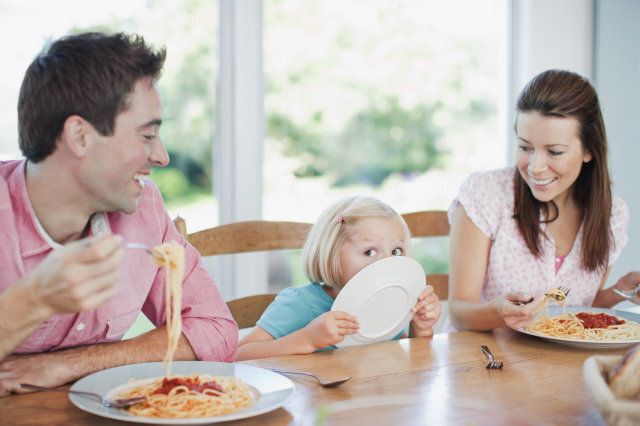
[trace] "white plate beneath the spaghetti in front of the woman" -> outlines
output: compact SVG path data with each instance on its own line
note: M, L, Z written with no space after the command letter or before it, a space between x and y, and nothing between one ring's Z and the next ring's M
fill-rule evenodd
M640 323L640 315L638 314L634 314L633 312L627 312L627 311L616 311L613 309L604 309L604 308L592 308L590 306L567 306L566 308L566 312L567 313L576 313L576 312L596 312L596 313L600 313L600 312L604 312L605 314L609 314L609 315L615 315L617 317L629 320L629 321L634 321L637 323ZM539 315L546 315L546 310L543 308L540 310ZM549 307L549 316L555 316L555 315L562 315L562 307L560 306L550 306ZM624 341L619 341L619 340L604 340L604 341L597 341L597 340L575 340L575 339L567 339L565 337L552 337L552 336L546 336L544 334L541 333L534 333L531 331L527 331L524 329L518 329L517 331L524 333L524 334L529 334L531 336L536 336L536 337L541 337L545 340L549 340L551 342L556 342L556 343L560 343L561 345L568 345L568 346L577 346L580 348L592 348L592 349L619 349L619 348L624 348L625 346L631 346L635 343L640 343L640 340L624 340Z

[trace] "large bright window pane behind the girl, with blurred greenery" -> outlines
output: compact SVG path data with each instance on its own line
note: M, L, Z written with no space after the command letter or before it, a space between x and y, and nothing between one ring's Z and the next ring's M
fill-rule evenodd
M446 209L466 175L505 165L505 2L263 5L265 219L313 222L352 194ZM446 271L447 239L424 244L425 269ZM271 289L304 283L290 262Z

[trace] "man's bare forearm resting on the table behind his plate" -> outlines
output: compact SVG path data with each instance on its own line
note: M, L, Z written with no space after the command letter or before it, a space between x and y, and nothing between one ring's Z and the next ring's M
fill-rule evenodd
M106 368L161 361L166 350L166 327L163 326L120 342L35 355L15 355L0 363L0 394L6 391L28 392L20 389L20 383L55 387ZM196 359L184 335L180 336L174 359Z

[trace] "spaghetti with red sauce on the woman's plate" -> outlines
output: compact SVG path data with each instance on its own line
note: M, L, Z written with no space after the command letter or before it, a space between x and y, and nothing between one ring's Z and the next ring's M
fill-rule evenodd
M549 315L549 300L555 300L562 306L562 315ZM546 316L535 320L525 330L545 336L561 337L572 340L589 341L627 341L640 340L640 324L606 313L565 311L565 295L558 289L547 293L545 300Z

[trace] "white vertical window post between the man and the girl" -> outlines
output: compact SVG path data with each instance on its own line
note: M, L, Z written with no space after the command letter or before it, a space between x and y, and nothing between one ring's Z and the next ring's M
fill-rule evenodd
M219 6L214 189L220 224L225 224L262 217L262 2L219 0ZM222 256L215 259L213 269L227 300L267 290L264 253Z

